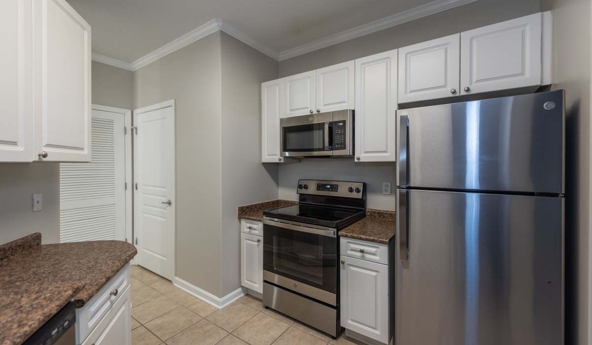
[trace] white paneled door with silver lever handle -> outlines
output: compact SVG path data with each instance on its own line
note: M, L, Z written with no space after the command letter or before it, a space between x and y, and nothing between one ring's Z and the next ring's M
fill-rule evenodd
M138 263L175 270L175 101L134 110L134 236Z

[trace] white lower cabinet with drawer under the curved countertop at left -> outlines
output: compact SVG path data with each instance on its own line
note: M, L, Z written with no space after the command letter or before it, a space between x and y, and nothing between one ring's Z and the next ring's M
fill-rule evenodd
M131 344L130 265L76 309L76 344Z

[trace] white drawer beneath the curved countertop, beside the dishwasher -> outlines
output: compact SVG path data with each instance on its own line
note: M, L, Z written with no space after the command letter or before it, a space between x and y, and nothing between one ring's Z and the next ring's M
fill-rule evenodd
M82 343L107 314L112 305L130 285L130 264L128 263L109 280L82 308L76 309L76 344ZM117 294L111 294L117 289Z

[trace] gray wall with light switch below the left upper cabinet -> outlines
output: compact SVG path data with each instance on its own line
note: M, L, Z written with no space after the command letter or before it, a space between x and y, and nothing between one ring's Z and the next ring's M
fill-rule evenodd
M0 163L0 244L32 233L60 241L59 163ZM33 212L33 193L43 209Z

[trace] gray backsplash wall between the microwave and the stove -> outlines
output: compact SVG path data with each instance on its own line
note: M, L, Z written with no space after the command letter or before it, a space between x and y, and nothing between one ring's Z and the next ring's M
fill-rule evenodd
M366 182L366 207L395 210L395 163L355 163L353 158L302 159L279 164L279 198L297 200L298 179ZM382 194L382 182L391 182L391 195Z

